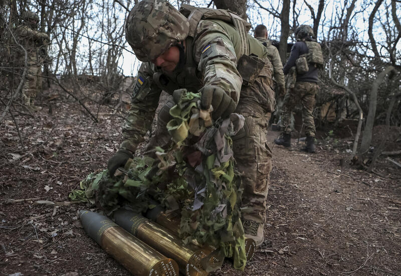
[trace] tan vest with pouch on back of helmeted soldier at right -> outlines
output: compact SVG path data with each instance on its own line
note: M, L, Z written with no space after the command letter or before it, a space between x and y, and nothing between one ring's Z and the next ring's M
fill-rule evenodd
M308 53L299 56L295 61L297 72L300 75L306 74L309 71L309 65L315 67L323 66L323 54L320 44L316 41L305 41L308 47Z

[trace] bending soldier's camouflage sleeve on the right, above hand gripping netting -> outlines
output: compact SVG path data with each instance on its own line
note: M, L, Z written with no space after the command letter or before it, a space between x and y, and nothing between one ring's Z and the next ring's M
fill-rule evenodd
M238 103L242 77L237 70L237 56L226 31L212 21L201 21L193 45L195 61L204 85L223 88Z

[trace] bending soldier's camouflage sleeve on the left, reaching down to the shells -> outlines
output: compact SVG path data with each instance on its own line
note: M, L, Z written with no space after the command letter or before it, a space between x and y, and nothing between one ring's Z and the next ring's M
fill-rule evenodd
M143 62L131 95L131 107L124 120L122 134L124 141L120 148L132 153L144 141L147 130L151 129L161 89L153 82L153 70Z

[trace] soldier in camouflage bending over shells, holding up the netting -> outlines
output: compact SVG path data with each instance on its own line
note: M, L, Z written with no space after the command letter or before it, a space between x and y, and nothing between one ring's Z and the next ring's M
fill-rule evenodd
M271 63L266 48L248 34L250 25L225 10L182 5L180 12L163 0L143 0L126 20L126 39L142 61L120 149L108 161L112 175L144 141L162 90L202 92L201 105L214 119L236 112L245 126L233 137L237 169L243 173L242 221L247 238L263 242L272 152L266 144L265 114L274 110ZM148 150L167 147L170 97L158 114Z

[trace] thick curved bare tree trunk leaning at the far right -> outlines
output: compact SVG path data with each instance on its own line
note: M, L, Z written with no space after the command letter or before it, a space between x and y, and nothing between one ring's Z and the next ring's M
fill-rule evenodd
M359 148L359 154L363 154L369 150L370 142L372 140L374 117L376 115L377 90L379 88L380 83L383 81L384 77L392 70L394 70L394 67L387 66L387 68L385 68L384 71L377 76L376 80L372 84L372 90L370 91L370 97L369 97L369 111L366 117L366 125L365 125L365 130L363 130L362 142Z

